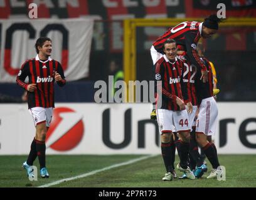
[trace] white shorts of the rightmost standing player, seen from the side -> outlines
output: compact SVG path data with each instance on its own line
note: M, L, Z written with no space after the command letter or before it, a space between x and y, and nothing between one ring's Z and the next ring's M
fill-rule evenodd
M218 121L218 107L213 97L203 99L198 119L196 119L196 132L206 136L214 135Z

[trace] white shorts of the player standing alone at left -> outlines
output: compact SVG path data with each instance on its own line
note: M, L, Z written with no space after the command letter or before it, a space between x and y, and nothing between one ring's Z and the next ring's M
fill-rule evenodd
M35 126L41 123L46 123L46 127L50 127L51 118L53 116L53 108L35 107L29 109L33 117Z

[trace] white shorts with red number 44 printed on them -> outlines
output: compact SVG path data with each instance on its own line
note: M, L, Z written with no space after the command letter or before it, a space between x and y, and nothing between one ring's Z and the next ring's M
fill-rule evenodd
M168 109L156 109L159 133L171 133L189 131L188 113L183 111L170 111Z

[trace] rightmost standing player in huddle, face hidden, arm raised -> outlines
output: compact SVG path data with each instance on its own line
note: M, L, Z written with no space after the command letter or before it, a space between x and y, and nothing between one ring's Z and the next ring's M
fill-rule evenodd
M196 119L196 141L203 149L206 157L210 161L213 169L207 178L216 178L218 173L221 173L220 163L216 146L208 141L208 136L212 136L216 132L218 108L216 101L213 98L213 74L211 65L206 58L200 58L208 70L208 82L201 81L201 72L196 73L196 94L199 99L199 113ZM198 169L200 171L200 169ZM200 172L198 172L200 173ZM195 173L196 174L196 173Z

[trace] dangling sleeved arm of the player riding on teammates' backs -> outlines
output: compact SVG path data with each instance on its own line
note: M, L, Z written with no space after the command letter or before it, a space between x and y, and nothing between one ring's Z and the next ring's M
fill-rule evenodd
M200 57L198 56L198 53L196 52L196 42L195 42L196 36L197 35L193 34L193 32L188 32L185 35L186 51L187 51L187 55L188 55L188 58L191 61L191 63L195 64L195 66L198 69L201 69L202 76L200 79L203 79L203 83L206 83L208 81L208 71L207 71L205 64L203 64L203 62L200 60Z

